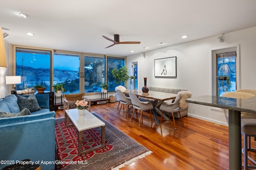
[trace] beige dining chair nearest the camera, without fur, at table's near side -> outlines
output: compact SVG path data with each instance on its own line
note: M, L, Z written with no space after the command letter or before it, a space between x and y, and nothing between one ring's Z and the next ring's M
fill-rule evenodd
M151 111L151 109L153 109L152 103L149 102L149 101L148 102L140 101L138 99L138 97L132 92L129 92L129 96L130 96L130 99L132 101L132 107L134 108L134 110L132 112L132 117L133 117L134 111L137 112L137 110L141 110L139 126L141 124L141 119L143 117L143 111L146 111L146 110L150 110L150 117L151 117L151 122L152 122L152 111ZM132 117L131 117L130 121L132 121Z

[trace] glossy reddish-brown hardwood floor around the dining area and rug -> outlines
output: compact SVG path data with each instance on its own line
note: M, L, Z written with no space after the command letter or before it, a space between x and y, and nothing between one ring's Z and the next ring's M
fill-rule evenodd
M186 116L184 126L175 119L174 130L172 120L163 120L162 125L151 123L149 112L143 114L139 127L140 113L134 113L130 121L132 110L125 119L122 110L118 115L117 106L118 102L95 105L91 112L153 151L122 170L228 170L228 127ZM56 111L56 118L63 115L63 110Z

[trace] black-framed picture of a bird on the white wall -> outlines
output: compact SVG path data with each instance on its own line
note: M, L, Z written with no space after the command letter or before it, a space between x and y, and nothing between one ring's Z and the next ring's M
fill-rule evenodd
M177 77L177 57L155 59L155 77Z

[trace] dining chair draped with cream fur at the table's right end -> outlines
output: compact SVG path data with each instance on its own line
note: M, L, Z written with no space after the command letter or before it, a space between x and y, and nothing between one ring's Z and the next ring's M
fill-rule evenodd
M178 114L180 115L180 119L182 121L182 124L184 125L184 121L183 121L182 116L180 114L180 110L185 109L186 107L188 107L188 103L185 100L187 98L191 98L191 96L192 96L191 92L181 91L181 92L178 92L175 100L167 100L167 101L163 102L161 104L160 108L159 108L162 111L160 124L162 123L163 113L164 113L164 111L166 111L166 112L169 113L169 121L170 121L170 113L172 113L172 119L173 119L175 130L177 128L176 128L176 125L175 125L174 113L178 112Z

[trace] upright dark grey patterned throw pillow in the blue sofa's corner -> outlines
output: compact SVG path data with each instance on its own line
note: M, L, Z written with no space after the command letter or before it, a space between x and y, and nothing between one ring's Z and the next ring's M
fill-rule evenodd
M25 108L29 109L30 112L41 110L34 94L28 96L28 98L24 96L18 96L18 105L20 110Z

